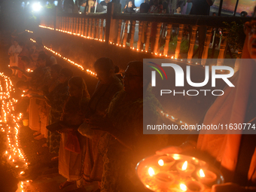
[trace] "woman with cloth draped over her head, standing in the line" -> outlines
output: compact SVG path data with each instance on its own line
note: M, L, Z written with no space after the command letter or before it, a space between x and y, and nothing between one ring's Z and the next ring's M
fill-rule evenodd
M62 129L59 145L59 174L67 178L67 181L59 185L59 188L68 186L81 179L82 154L84 151L85 139L78 133L78 126L83 123L84 109L87 108L90 95L84 79L74 77L69 80L69 99L66 101L62 112ZM73 150L70 145L70 139L79 142L73 143ZM74 140L73 140L74 141ZM75 150L75 151L74 151Z

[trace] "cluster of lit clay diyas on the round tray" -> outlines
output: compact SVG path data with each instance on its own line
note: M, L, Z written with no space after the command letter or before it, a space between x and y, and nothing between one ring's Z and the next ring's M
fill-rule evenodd
M145 186L156 191L175 191L203 192L209 188L216 180L217 175L207 169L197 169L193 163L176 160L169 156L158 158L157 165L149 166L145 172L143 181ZM173 168L173 166L175 167ZM193 178L192 174L196 172Z

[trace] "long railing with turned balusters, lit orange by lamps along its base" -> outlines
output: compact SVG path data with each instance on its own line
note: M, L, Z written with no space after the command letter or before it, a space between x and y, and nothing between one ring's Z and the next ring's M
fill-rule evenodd
M204 41L202 59L208 58L209 44L213 28L227 28L224 22L245 23L250 20L247 17L210 17L191 15L167 15L167 14L114 14L115 6L108 4L107 14L56 14L41 18L41 26L55 29L59 32L66 32L78 35L83 38L90 38L105 41L107 44L114 44L119 47L130 47L135 51L153 53L156 56L167 58L181 57L181 41L184 27L190 26L189 49L187 59L194 57L194 45L196 44L197 29L206 27L206 38ZM128 32L130 28L130 32ZM169 51L169 42L172 30L178 31L178 40L175 53ZM152 31L155 34L152 36ZM130 34L129 34L130 33ZM228 29L223 31L218 59L225 58L227 48ZM127 37L130 43L127 43ZM154 38L154 47L151 45L151 38ZM142 41L142 39L144 39ZM164 41L163 49L160 49L160 41ZM145 44L145 46L143 46ZM205 62L201 63L202 65ZM222 65L221 62L218 65Z

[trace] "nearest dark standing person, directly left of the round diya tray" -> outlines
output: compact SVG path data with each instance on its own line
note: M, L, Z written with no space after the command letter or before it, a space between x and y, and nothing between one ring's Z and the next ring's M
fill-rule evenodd
M130 62L123 74L123 90L112 99L105 118L90 121L96 130L106 132L98 147L104 160L101 191L145 190L136 180L136 163L167 143L167 136L143 135L143 105L154 119L161 117L160 103L147 89L149 82L143 83L143 63Z

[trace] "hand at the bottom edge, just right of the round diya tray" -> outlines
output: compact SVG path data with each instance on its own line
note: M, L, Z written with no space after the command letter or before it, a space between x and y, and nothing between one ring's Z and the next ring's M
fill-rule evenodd
M245 187L235 183L224 183L212 185L212 192L244 192Z

